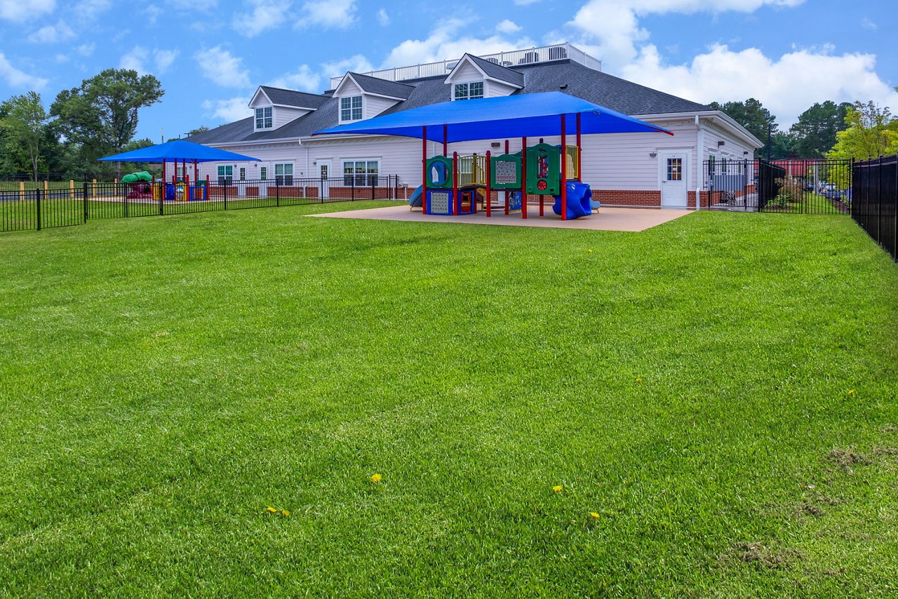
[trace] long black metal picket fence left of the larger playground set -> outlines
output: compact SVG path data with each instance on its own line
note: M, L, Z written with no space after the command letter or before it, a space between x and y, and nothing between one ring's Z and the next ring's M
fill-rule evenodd
M362 183L357 185L357 183ZM94 183L0 181L0 232L83 225L94 218L165 216L371 199L408 199L399 177Z

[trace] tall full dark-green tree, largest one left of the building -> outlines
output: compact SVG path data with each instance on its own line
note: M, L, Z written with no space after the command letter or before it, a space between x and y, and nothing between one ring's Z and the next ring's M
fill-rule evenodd
M50 114L66 139L81 145L82 157L92 160L121 152L136 133L137 110L160 101L164 93L153 75L108 68L80 87L59 92Z

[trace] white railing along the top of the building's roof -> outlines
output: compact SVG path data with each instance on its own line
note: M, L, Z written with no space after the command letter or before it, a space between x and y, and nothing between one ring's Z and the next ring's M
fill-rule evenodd
M551 46L541 46L539 48L525 48L522 50L512 50L510 52L484 54L480 57L501 66L531 65L569 58L587 68L596 71L602 70L601 60L589 56L583 50L571 46L568 42L563 44L553 44ZM425 63L423 65L396 66L394 68L384 68L379 71L370 71L368 73L363 73L362 75L377 77L378 79L385 79L387 81L404 81L407 79L418 79L420 77L448 75L452 72L453 68L455 68L455 65L458 64L459 60L460 58L454 58L453 60L441 60L439 62ZM342 79L343 75L330 77L330 89L336 88Z

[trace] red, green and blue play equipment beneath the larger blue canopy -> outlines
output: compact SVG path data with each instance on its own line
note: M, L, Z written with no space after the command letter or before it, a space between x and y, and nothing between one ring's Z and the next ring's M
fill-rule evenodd
M480 205L487 216L498 209L506 215L521 212L526 218L524 198L537 196L543 216L546 196L551 196L555 214L561 216L564 209L563 219L588 216L598 207L597 201L591 201L589 185L580 179L579 145L567 145L562 151L562 146L540 138L539 144L527 147L524 137L523 150L515 154L510 154L506 139L504 154L488 150L471 155L455 152L451 157L446 145L443 155L425 159L424 185L409 199L409 207L422 207L427 215L462 216L476 214ZM493 191L500 203L494 203ZM575 201L568 205L562 196Z

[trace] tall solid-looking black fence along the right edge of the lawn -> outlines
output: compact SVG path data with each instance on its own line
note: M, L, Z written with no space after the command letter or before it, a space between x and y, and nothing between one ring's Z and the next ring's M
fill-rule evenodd
M898 260L898 154L854 163L851 218Z

